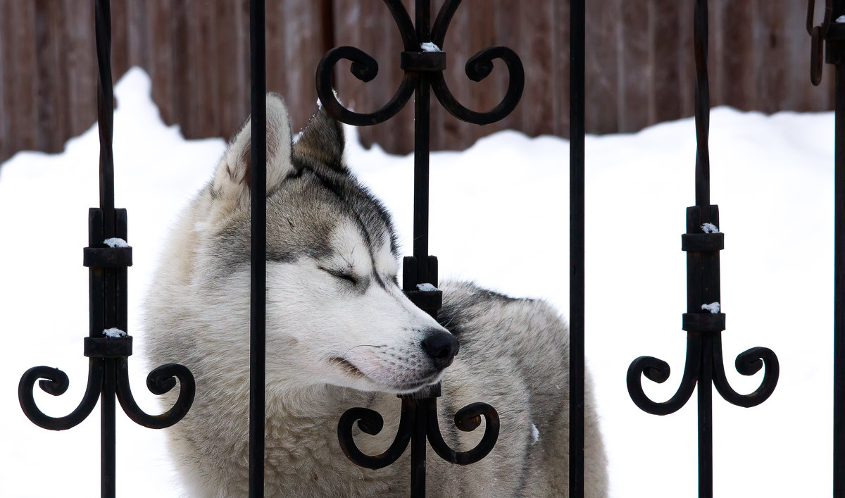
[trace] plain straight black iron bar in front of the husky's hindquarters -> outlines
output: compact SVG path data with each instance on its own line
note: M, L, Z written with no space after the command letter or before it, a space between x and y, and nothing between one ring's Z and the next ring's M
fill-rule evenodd
M584 0L570 3L570 497L584 496Z

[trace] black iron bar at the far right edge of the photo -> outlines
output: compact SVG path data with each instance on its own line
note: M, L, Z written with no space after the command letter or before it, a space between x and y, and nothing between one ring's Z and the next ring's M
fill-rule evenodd
M833 1L832 19L845 14L845 0ZM833 242L833 495L845 496L845 68L842 41L828 41L836 72L836 131ZM835 48L835 50L831 50Z

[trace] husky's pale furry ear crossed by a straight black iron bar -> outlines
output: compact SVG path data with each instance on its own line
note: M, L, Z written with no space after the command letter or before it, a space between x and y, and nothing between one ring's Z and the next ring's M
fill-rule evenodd
M252 177L252 119L232 138L212 183L215 198L248 198ZM291 122L281 96L267 94L267 192L273 191L292 166Z

